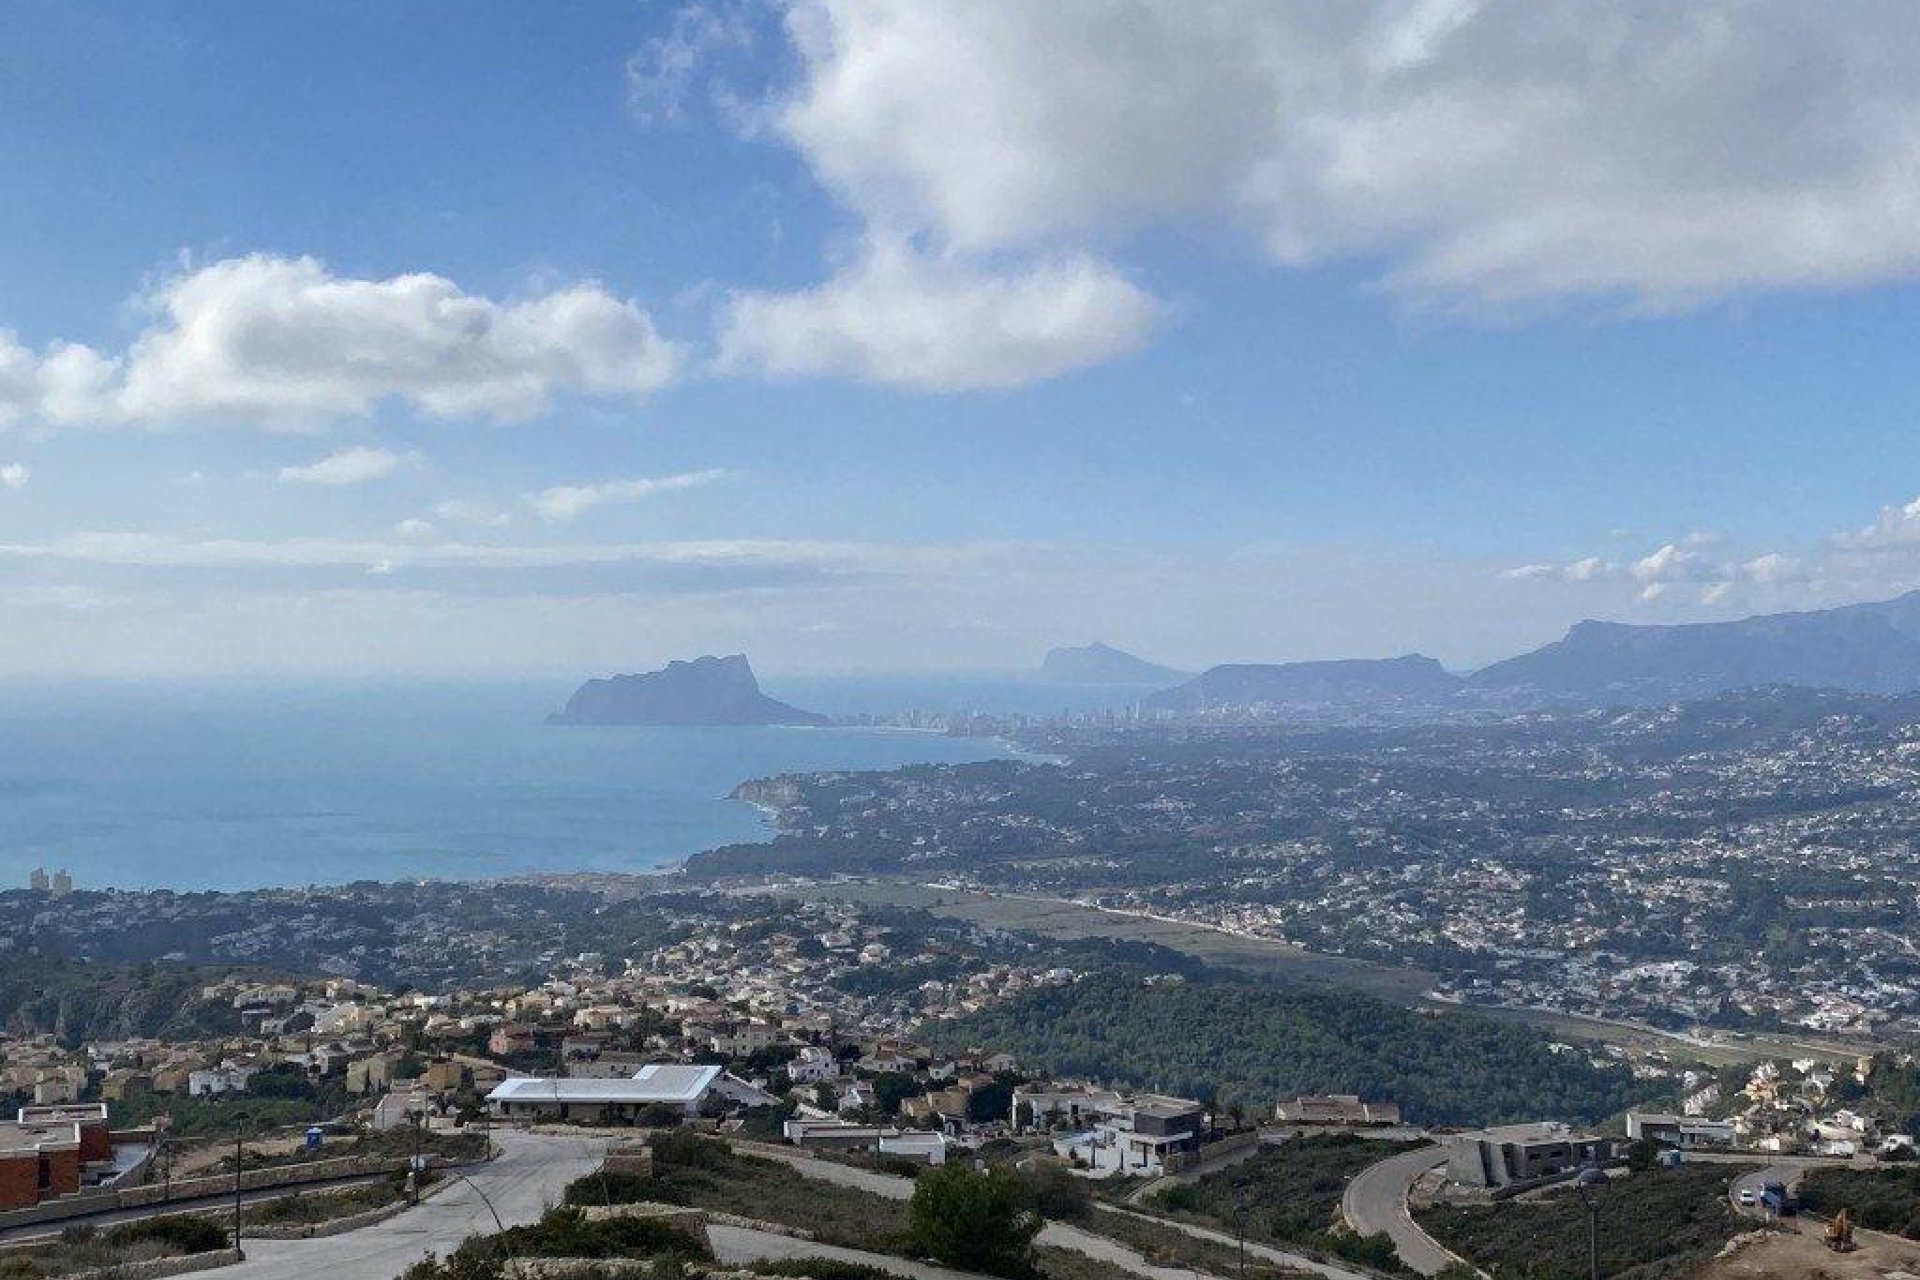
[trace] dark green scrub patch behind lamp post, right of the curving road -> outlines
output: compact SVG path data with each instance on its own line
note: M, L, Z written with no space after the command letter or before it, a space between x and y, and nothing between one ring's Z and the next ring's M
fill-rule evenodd
M1663 1280L1692 1272L1751 1228L1726 1197L1743 1173L1751 1169L1684 1165L1611 1178L1594 1192L1599 1199L1599 1274ZM1571 1186L1528 1201L1440 1205L1419 1221L1492 1280L1584 1280L1588 1274L1588 1213Z

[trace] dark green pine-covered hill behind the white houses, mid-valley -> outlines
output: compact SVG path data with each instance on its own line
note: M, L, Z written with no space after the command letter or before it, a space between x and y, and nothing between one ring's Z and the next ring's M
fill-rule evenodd
M1265 1111L1294 1094L1394 1098L1423 1125L1597 1121L1636 1102L1624 1065L1555 1052L1475 1013L1415 1013L1323 986L1142 983L1031 990L920 1034L993 1046L1029 1069Z

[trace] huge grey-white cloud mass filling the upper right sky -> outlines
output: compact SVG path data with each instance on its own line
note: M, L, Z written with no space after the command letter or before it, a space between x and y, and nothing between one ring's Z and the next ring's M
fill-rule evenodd
M1920 269L1899 0L799 0L787 27L780 129L943 248L1227 225L1494 303Z

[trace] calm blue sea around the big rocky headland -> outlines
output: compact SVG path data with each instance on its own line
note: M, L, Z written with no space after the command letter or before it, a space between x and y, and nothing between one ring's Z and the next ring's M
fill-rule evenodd
M795 679L829 714L1123 706L1031 681ZM735 785L1004 758L906 729L563 727L568 683L0 685L0 887L263 889L653 871L772 835Z

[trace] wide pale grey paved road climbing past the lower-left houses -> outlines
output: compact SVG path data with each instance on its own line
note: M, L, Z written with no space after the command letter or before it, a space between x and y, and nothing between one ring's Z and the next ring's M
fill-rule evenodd
M467 1171L465 1180L419 1209L321 1240L250 1240L248 1261L221 1268L221 1280L394 1280L428 1251L445 1257L468 1236L492 1232L486 1201L507 1226L538 1221L568 1182L599 1169L607 1153L599 1138L513 1130L493 1130L493 1138L497 1159Z

